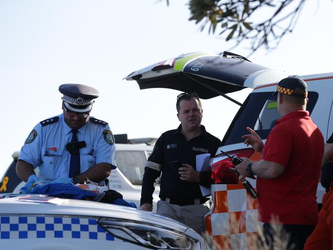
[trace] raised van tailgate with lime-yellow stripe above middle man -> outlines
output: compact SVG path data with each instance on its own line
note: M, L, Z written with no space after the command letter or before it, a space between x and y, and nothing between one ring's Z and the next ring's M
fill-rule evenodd
M140 89L192 91L202 99L209 99L217 97L219 92L226 94L278 82L285 75L283 71L271 70L240 57L189 53L134 71L124 79L135 80Z

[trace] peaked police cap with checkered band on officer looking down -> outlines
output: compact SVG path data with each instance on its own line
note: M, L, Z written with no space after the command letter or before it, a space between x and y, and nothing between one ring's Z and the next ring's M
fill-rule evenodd
M99 97L97 89L83 84L62 84L59 91L64 94L61 99L66 109L77 113L89 113L95 102L93 99Z

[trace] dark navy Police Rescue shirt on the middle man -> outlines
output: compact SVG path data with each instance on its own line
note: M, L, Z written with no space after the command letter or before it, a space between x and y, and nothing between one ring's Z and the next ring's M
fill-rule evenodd
M202 153L215 155L221 141L208 133L201 125L202 133L189 141L181 133L181 125L174 130L166 131L156 141L154 150L148 161L162 166L161 198L201 198L199 183L182 181L178 174L178 168L172 165L172 161L179 161L196 166L195 157Z

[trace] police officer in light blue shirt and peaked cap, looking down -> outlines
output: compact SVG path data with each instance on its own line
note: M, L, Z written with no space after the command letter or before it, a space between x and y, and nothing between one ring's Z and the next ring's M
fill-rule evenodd
M84 183L85 178L101 182L116 168L108 123L90 117L99 91L82 84L63 84L59 91L63 113L38 123L18 157L16 172L26 186L37 181Z

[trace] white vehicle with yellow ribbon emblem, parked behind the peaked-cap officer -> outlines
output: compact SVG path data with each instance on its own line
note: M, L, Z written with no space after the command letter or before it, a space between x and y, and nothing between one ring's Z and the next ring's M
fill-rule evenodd
M115 135L116 137L116 135ZM131 144L115 144L115 159L117 168L111 171L109 187L121 193L123 199L127 202L134 202L137 207L140 206L141 185L146 161L152 151L154 139L149 140L132 139ZM147 145L149 143L150 145ZM5 175L0 182L0 196L5 193L18 193L18 190L25 184L16 175L16 163L19 151L13 153L13 161L7 168ZM2 187L2 188L1 188ZM153 194L154 209L160 193L159 183Z

